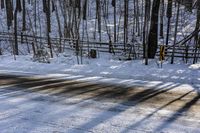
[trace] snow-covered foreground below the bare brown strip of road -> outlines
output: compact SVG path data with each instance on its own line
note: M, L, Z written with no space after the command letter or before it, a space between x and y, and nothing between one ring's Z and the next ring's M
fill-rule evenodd
M180 119L172 123L173 120L168 120L166 116L174 114L166 109L73 97L60 100L55 96L16 90L0 89L1 133L198 133L200 130L200 121L195 117L187 119L187 126ZM194 119L196 123L193 123Z

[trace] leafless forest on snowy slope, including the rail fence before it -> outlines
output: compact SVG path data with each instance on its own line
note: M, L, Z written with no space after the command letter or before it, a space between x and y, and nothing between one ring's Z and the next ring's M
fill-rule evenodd
M70 49L77 58L108 52L125 60L145 59L146 65L154 58L196 63L200 56L200 0L0 3L0 54L53 58Z

